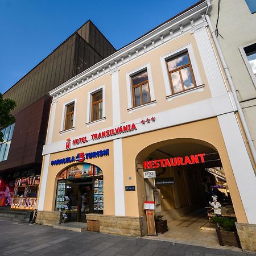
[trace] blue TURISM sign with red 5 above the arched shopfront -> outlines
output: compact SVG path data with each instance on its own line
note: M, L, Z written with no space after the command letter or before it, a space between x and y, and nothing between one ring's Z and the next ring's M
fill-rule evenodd
M102 156L108 156L108 155L109 155L109 149L93 151L89 153L81 152L76 156L68 156L67 158L52 160L51 165L56 166L58 164L84 162L85 159L100 158Z

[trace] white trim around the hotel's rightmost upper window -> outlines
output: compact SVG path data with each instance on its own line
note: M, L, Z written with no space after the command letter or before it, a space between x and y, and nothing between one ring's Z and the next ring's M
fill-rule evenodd
M164 78L164 86L166 87L166 95L169 96L172 94L171 91L171 83L169 79L169 72L167 70L166 60L170 57L173 57L175 55L179 55L179 53L188 51L189 59L191 61L191 66L193 70L193 74L196 80L196 86L199 86L202 84L202 80L199 73L199 68L196 63L196 57L193 52L192 44L189 43L186 46L183 46L179 49L176 49L175 51L169 52L166 55L160 57L161 65L162 65L162 71L163 71L163 78Z

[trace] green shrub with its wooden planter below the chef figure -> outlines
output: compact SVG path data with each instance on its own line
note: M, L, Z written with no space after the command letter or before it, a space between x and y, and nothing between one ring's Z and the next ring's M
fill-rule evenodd
M220 245L241 248L236 229L236 218L213 217L212 222L217 224L216 233Z

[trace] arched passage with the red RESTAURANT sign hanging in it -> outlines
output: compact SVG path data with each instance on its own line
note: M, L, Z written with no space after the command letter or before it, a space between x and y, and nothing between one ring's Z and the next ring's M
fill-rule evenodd
M208 224L214 216L212 196L218 196L223 214L235 216L217 149L197 139L172 139L144 148L136 161L138 171L156 172L144 179L144 187L146 201L155 201L155 215L167 220L169 231L159 237L217 246Z

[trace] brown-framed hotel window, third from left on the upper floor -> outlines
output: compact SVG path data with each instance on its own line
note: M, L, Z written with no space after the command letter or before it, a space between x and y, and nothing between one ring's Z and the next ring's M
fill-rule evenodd
M133 106L140 106L151 101L147 69L131 76Z

